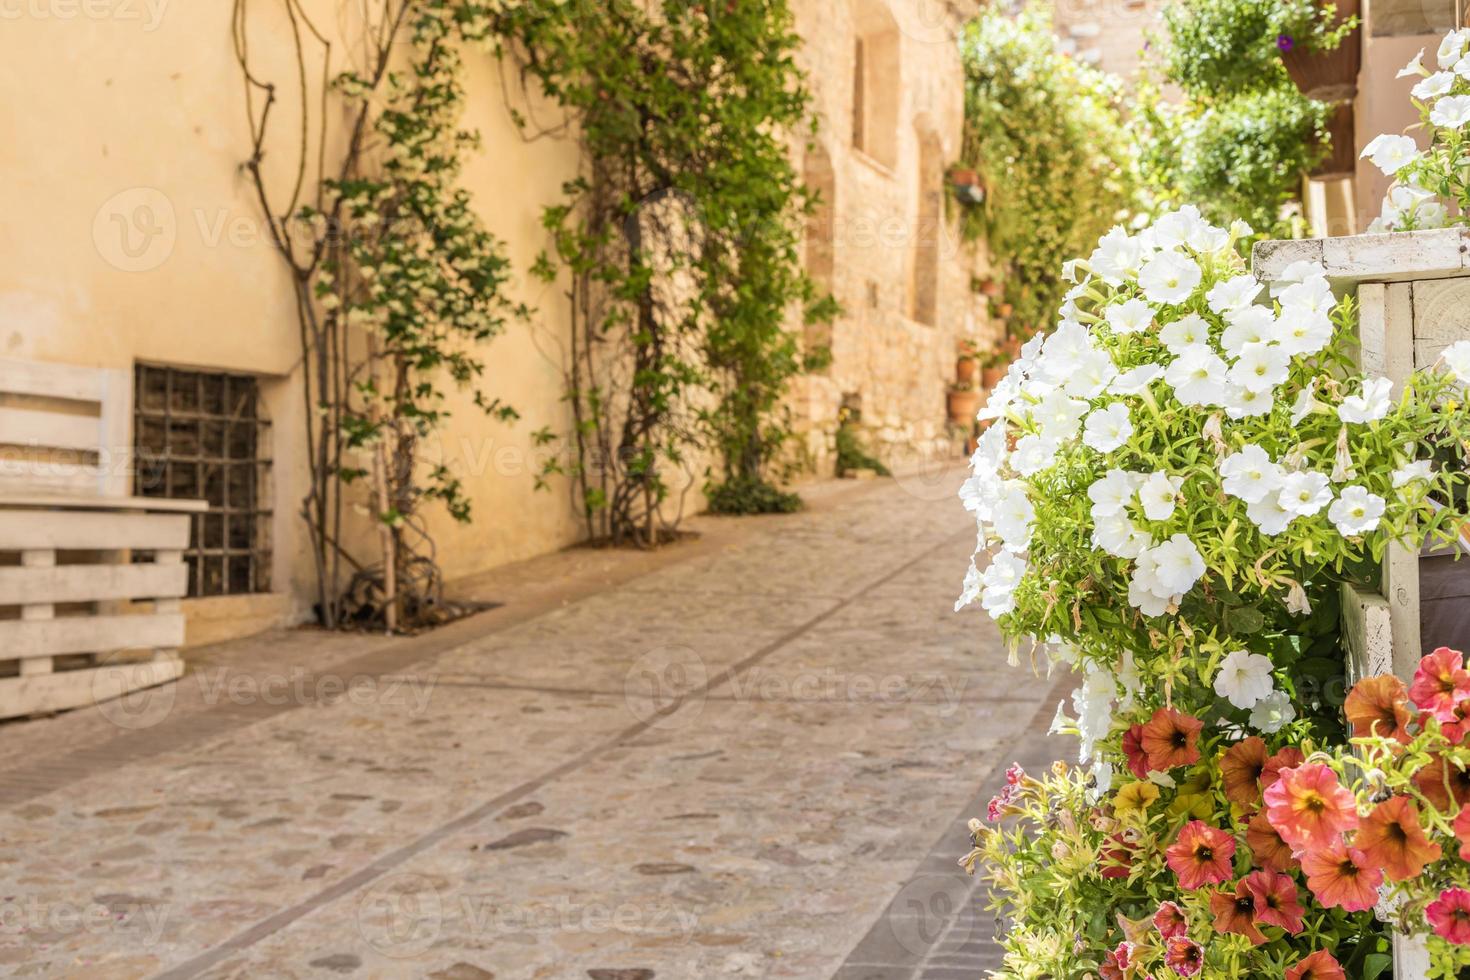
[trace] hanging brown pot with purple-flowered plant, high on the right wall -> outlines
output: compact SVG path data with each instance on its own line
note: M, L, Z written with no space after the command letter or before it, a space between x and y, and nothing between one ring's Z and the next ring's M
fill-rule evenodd
M1358 0L1336 4L1288 0L1279 7L1276 48L1301 94L1326 103L1352 98L1358 88L1361 46Z

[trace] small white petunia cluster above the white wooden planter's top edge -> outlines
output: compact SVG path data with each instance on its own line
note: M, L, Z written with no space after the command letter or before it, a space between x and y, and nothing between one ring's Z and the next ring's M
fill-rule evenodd
M1369 231L1445 228L1470 215L1470 173L1464 167L1466 128L1470 126L1470 28L1444 37L1435 51L1433 71L1424 65L1424 54L1420 50L1398 76L1420 79L1411 96L1429 145L1421 148L1410 135L1382 134L1363 148L1366 159L1394 178Z

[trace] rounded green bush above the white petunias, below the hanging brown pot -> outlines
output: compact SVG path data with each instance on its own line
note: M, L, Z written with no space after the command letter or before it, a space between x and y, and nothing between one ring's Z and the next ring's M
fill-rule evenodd
M1195 201L1210 220L1245 220L1267 237L1299 234L1283 206L1326 154L1329 107L1286 82L1217 101L1172 104L1144 90L1141 169L1160 200Z

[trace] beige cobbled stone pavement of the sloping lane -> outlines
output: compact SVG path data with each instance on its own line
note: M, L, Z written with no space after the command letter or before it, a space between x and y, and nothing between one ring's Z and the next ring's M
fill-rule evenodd
M0 974L978 977L964 820L1054 685L951 613L942 480L490 576L0 727Z

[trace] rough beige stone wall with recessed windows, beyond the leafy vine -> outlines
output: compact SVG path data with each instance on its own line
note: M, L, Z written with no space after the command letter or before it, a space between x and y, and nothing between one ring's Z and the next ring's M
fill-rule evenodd
M792 407L801 463L828 475L844 406L867 450L903 466L958 451L945 392L961 338L992 342L972 276L983 247L960 242L945 170L958 157L964 71L957 31L973 4L938 0L797 0L822 129L801 148L823 195L806 260L842 304L807 332L832 364L800 379Z

